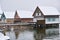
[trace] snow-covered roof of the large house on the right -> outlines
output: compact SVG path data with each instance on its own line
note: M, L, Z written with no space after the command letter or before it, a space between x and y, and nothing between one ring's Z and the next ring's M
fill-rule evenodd
M44 15L59 15L59 12L55 7L49 6L37 6L37 7L42 11Z

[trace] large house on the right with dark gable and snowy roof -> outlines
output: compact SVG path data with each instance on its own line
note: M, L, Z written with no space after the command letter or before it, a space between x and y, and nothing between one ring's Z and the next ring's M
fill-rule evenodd
M46 27L59 27L59 12L54 7L38 6L33 13L33 21L45 20Z

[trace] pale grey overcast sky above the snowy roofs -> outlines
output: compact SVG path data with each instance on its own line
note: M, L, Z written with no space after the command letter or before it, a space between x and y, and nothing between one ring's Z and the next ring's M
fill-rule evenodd
M37 5L53 6L60 11L60 0L0 0L0 5L3 11L33 11Z

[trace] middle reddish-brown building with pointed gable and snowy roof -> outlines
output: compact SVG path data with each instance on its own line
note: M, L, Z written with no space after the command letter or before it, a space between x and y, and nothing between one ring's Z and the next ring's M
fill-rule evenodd
M14 22L33 22L32 12L30 11L16 11Z

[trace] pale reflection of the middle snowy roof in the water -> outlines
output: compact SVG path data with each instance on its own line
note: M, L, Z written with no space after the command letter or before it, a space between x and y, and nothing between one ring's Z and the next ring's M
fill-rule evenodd
M33 31L23 31L20 32L19 37L17 40L34 40L34 32Z

